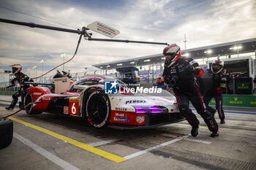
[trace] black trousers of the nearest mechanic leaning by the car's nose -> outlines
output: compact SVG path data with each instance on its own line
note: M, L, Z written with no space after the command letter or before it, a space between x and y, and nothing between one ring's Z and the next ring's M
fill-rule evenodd
M205 121L206 125L208 126L209 131L217 132L218 131L218 125L214 117L211 115L210 112L206 110L205 104L203 103L203 98L200 95L200 91L197 88L196 85L194 85L194 88L188 91L184 90L173 90L176 94L176 100L178 103L178 109L181 112L181 114L184 115L188 123L192 127L198 127L199 120L195 116L195 114L192 112L191 109L189 109L189 101L191 101L192 105L197 110L197 113L203 117L203 120Z

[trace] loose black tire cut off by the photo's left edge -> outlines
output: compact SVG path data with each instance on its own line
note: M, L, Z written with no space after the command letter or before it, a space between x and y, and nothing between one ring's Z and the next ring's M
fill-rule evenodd
M0 150L12 143L13 123L10 119L0 119Z

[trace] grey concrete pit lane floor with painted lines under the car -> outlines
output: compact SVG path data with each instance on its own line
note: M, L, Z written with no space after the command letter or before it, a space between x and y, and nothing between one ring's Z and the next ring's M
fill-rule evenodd
M9 101L1 96L0 116L18 110L5 110ZM187 121L122 131L95 129L78 117L21 111L12 116L15 134L0 150L0 169L256 169L255 109L225 109L226 123L219 124L216 138L198 114L200 134L194 138Z

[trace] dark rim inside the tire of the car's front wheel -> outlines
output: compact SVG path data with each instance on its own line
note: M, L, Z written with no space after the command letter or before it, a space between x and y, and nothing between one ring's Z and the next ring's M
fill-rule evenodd
M108 115L108 107L106 99L100 94L96 93L89 99L87 104L87 113L89 120L93 124L99 125Z

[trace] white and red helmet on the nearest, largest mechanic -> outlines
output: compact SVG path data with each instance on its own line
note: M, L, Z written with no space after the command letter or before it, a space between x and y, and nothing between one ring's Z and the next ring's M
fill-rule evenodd
M170 67L181 57L181 48L176 44L169 45L168 47L165 47L162 54L165 55L167 67Z

